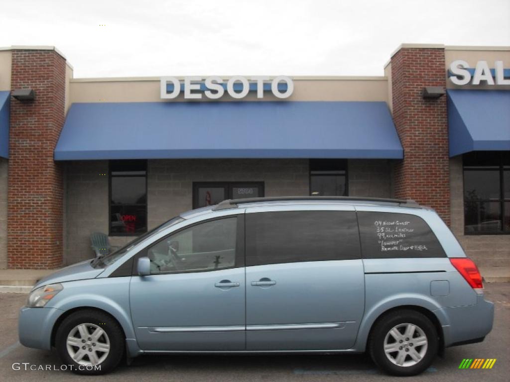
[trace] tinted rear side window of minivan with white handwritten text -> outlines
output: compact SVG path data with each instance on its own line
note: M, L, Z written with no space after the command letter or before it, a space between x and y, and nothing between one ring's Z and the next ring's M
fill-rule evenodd
M421 217L406 213L358 212L363 258L446 257Z

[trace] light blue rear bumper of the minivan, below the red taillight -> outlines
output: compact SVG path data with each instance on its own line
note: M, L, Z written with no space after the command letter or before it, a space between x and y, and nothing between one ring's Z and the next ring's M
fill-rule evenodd
M445 347L480 342L492 330L494 304L486 301L483 294L477 295L475 305L439 310L449 319L449 324L443 325Z

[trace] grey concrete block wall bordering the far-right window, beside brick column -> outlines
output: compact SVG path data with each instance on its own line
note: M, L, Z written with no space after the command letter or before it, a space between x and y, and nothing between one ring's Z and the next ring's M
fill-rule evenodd
M464 234L462 156L450 158L451 230L478 266L510 266L510 235Z

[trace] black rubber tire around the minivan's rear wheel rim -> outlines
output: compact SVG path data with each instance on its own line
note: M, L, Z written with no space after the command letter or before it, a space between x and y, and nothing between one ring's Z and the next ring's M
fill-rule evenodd
M411 354L401 352L402 350L391 352L389 357L393 358L394 360L397 360L398 354L401 352L403 357L405 357L404 360L406 364L412 364L413 362L416 362L414 365L409 366L397 365L387 357L385 351L385 339L389 332L395 328L395 326L407 323L416 325L418 329L421 330L421 332L426 336L427 344L426 347L423 347L423 345L415 346L415 344L412 342L412 338L410 338L409 341L406 341L406 338L409 337L405 337L405 335L403 336L405 338L402 338L402 343L397 343L398 341L395 341L394 344L396 345L397 349L401 348L403 351L411 352L415 350L415 352L413 352L415 357L416 353L423 350L422 357L419 361L413 360L413 358L411 358ZM402 326L397 330L399 330L402 335L405 334L405 326ZM415 333L417 333L415 336L418 337L419 331L416 330ZM417 338L415 339L417 340ZM389 340L393 342L395 338L390 335ZM420 341L417 340L416 342L419 343ZM393 343L389 343L389 346L390 345L393 345ZM436 358L438 354L438 348L439 338L433 323L430 322L430 320L422 313L410 309L400 309L382 316L374 324L369 338L369 351L372 360L382 371L397 376L416 375L426 370L432 364L432 361Z

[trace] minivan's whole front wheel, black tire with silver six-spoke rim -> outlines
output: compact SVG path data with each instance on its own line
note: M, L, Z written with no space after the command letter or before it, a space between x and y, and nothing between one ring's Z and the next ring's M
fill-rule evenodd
M55 337L63 364L77 374L98 375L113 370L124 354L124 335L117 321L96 310L66 317Z

